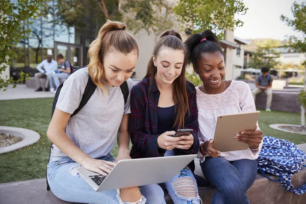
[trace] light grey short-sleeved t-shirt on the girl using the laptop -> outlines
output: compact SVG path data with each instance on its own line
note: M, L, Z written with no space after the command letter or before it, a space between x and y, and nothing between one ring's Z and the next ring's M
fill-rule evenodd
M64 82L56 108L72 114L81 102L88 81L88 69L82 68ZM120 87L106 85L108 93L97 87L87 104L72 116L66 125L66 134L72 142L91 158L99 158L112 150L124 114L131 113L130 94L133 81L128 79L129 97L124 105ZM60 150L54 145L53 151Z

